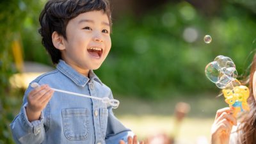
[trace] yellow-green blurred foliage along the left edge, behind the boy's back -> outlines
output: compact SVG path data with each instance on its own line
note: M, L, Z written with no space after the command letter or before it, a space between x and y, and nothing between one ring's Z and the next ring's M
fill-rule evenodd
M13 143L9 125L18 113L23 95L22 90L13 90L9 83L10 76L17 72L13 67L12 42L20 40L27 17L38 19L39 8L42 5L38 1L0 1L0 144Z

